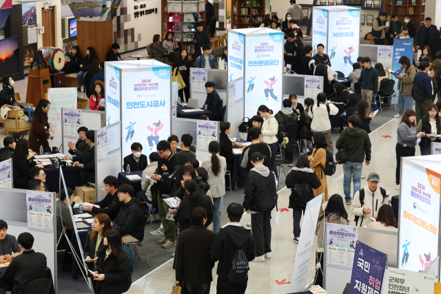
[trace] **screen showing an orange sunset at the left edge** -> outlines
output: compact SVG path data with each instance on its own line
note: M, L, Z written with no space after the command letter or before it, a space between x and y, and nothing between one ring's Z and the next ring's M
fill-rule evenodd
M20 72L19 37L0 40L0 75L10 76Z

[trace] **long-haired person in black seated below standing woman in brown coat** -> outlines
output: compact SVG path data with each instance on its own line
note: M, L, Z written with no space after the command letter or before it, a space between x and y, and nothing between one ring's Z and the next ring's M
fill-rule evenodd
M12 176L14 177L14 189L29 189L31 180L30 169L37 165L34 160L28 160L28 140L20 139L12 156ZM43 168L40 163L38 167Z

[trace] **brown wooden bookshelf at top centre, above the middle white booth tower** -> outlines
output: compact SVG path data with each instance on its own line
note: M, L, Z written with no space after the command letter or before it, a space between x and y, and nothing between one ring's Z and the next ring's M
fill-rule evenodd
M232 29L258 28L265 21L265 0L232 0Z

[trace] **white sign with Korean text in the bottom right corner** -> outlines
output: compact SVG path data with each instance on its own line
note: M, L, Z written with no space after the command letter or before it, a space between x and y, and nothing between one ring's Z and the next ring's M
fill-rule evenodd
M416 273L404 269L386 266L381 294L426 294L433 293L433 286L438 282L435 275ZM435 292L436 293L436 292Z

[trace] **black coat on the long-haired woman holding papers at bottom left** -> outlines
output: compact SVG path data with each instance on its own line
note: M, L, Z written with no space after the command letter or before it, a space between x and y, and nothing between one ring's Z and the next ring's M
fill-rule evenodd
M125 252L120 252L116 258L113 252L105 258L105 251L107 247L104 246L99 251L96 251L98 260L96 260L96 267L94 271L103 273L105 279L96 281L96 294L121 294L129 290L132 284L132 276L130 275L130 261Z

